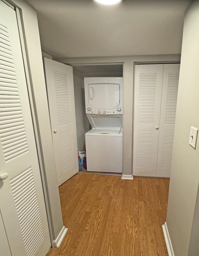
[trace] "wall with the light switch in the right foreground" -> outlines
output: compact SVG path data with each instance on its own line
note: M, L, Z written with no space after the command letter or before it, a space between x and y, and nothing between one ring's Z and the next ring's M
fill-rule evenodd
M188 7L183 29L167 227L175 256L199 255L199 138L189 145L190 127L199 128L199 1Z

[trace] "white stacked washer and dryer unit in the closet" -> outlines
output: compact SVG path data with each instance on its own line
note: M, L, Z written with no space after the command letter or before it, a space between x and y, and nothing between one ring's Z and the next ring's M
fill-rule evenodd
M87 171L122 173L123 78L85 77Z

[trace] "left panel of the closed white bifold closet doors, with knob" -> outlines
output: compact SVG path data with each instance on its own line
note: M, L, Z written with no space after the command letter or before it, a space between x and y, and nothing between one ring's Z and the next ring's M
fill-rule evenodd
M134 176L156 175L163 66L135 66Z

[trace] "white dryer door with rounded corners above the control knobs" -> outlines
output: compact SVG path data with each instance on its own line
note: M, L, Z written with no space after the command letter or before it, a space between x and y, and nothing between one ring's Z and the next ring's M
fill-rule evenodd
M94 109L114 109L119 105L119 84L89 84L89 104Z

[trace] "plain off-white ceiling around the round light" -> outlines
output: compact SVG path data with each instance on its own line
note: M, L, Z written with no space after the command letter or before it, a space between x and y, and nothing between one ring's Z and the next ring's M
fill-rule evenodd
M27 0L37 11L42 50L55 58L180 54L190 0Z

